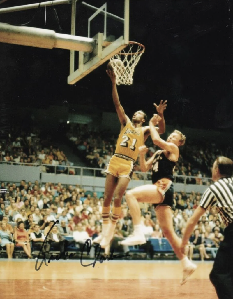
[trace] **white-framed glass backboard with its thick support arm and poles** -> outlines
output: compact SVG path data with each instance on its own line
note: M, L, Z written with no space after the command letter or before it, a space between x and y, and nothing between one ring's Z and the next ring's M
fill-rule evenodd
M129 44L129 0L124 0L124 19L107 12L105 9L94 7L82 1L81 4L96 12L92 15L92 20L98 13L104 14L104 34L98 33L94 38L75 36L76 24L76 2L78 0L54 0L34 4L20 5L15 7L1 8L0 14L12 13L21 10L37 9L38 7L48 7L58 4L71 4L71 35L55 33L53 30L13 26L0 23L0 42L7 42L18 45L27 45L40 48L62 48L70 50L70 75L68 83L74 84L82 77L89 74L95 68L109 60L110 57L124 49ZM106 36L106 17L115 19L124 24L124 36L112 41L111 36ZM89 28L90 34L90 28ZM75 51L79 51L78 69L75 71ZM88 54L91 53L91 54ZM88 61L89 60L89 61Z

